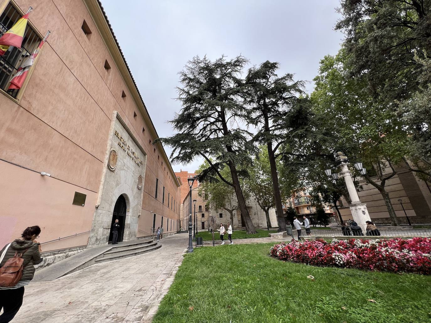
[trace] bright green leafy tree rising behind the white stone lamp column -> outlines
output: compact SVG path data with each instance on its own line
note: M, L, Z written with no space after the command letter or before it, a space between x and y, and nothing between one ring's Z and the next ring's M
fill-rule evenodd
M392 225L398 225L385 186L397 174L395 166L409 155L407 134L397 115L372 99L364 81L350 78L345 64L344 50L321 61L311 95L313 109L326 116L327 127L350 160L364 163L369 170L365 179L383 197Z

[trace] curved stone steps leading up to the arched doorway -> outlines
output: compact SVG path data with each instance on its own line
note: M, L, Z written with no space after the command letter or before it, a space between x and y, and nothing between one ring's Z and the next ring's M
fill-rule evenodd
M147 239L141 239L136 242L129 242L127 244L119 243L117 245L112 245L112 248L104 252L102 255L98 255L95 259L95 263L99 264L105 261L141 255L146 252L154 251L161 246L162 245L159 244L156 240Z

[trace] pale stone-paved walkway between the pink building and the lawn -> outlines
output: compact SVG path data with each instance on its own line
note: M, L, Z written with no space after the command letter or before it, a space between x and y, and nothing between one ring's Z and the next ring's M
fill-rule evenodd
M154 252L30 283L12 323L151 322L181 264L188 235L169 236L161 243Z

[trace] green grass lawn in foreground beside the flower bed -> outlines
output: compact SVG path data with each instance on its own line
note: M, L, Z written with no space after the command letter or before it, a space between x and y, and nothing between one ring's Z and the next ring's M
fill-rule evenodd
M203 247L185 255L153 322L431 320L431 276L283 262L268 256L272 245Z

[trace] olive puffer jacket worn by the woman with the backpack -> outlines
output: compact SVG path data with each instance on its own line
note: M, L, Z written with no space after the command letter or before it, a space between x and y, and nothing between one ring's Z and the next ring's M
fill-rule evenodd
M9 245L9 243L7 245ZM5 245L3 249L1 249L0 255L3 253L4 248L6 248L7 245ZM22 258L24 259L24 268L22 270L22 277L20 281L32 280L34 276L34 265L40 264L42 261L41 254L39 253L38 243L21 239L16 239L12 241L9 248L7 248L3 261L0 264L0 267L3 267L3 265L9 258L13 258L15 252L23 252L27 248L29 249L25 252L24 255L22 255Z

